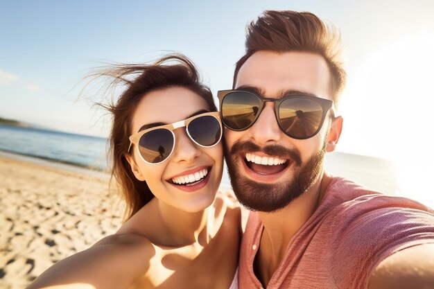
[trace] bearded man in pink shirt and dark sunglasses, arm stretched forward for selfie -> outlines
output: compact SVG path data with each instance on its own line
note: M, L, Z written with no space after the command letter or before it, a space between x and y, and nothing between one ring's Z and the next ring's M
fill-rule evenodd
M218 93L229 177L253 211L240 288L434 288L434 212L324 173L342 130L340 51L315 15L267 11L234 90Z

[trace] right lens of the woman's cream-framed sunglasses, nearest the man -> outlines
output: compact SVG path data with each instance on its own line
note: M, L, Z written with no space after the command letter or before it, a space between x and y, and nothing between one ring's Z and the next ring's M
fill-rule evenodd
M200 146L214 146L222 134L220 123L214 116L200 116L189 123L189 135Z

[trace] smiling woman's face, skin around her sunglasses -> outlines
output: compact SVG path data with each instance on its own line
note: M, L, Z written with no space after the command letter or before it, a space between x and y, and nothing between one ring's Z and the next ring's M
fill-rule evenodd
M175 123L197 114L209 112L207 102L195 92L184 87L168 87L151 91L137 105L132 116L132 133L150 123ZM196 212L214 201L223 172L223 148L221 143L203 148L193 143L185 128L177 128L175 148L165 161L148 164L138 155L137 148L127 157L137 179L145 181L159 202L177 209ZM175 184L182 177L205 173L199 181ZM175 182L174 181L175 179Z

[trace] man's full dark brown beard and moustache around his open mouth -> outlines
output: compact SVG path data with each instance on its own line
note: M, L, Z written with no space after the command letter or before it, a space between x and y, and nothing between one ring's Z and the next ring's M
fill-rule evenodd
M248 150L252 146L252 150ZM243 147L246 149L243 150ZM284 209L309 189L318 177L322 168L325 147L324 143L323 148L304 163L298 152L283 149L286 153L279 154L275 153L278 150L282 151L282 148L278 146L263 148L268 155L279 155L281 159L289 160L288 165L282 166L283 169L279 170L249 166L243 159L245 155L243 152L261 150L248 142L235 143L229 153L225 151L225 157L229 179L236 198L251 211L275 212ZM255 148L257 150L254 150ZM291 159L294 161L290 161Z

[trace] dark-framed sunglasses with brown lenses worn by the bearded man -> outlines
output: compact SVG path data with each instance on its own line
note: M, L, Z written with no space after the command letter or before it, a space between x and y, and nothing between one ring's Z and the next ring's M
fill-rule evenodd
M250 128L261 114L264 103L275 103L280 129L293 139L309 139L317 134L327 112L334 117L333 101L309 94L290 94L282 98L264 98L251 91L218 91L223 124L236 131Z

